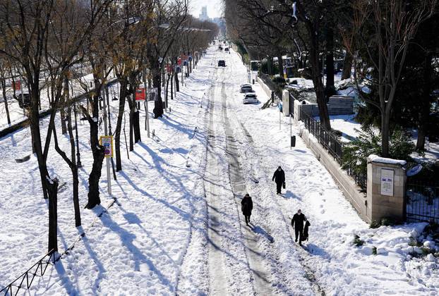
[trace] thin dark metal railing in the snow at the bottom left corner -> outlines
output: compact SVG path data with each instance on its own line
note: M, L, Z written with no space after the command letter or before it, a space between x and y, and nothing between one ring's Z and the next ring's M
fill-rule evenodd
M42 277L47 270L47 266L52 265L59 258L55 257L56 252L50 251L38 260L30 269L18 276L12 283L0 290L0 295L17 295L20 289L29 290L35 276Z

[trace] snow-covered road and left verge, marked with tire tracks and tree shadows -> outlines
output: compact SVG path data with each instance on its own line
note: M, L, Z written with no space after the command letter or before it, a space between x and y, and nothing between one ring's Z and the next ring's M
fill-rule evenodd
M227 67L218 68L219 59ZM438 264L407 260L404 253L414 230L419 235L425 225L369 229L301 139L289 147L290 128L297 132L289 118L281 117L279 126L275 107L242 104L239 85L246 78L236 52L211 47L169 100L172 112L152 121L155 140L142 131L129 159L122 147L116 203L107 208L113 199L102 178L102 206L81 212L85 236L24 294L438 295ZM264 103L267 96L254 88ZM117 112L118 101L112 104ZM82 209L91 155L88 127L78 128ZM0 139L0 286L46 248L47 204L37 163L33 157L14 161L28 154L27 137L25 129ZM60 144L68 151L67 138ZM59 195L62 253L82 229L74 228L68 166L54 151L49 164L67 187ZM279 165L287 177L282 196L271 180ZM253 198L250 227L241 214L245 193ZM311 221L303 247L294 243L290 225L297 209ZM352 244L354 235L362 247Z

